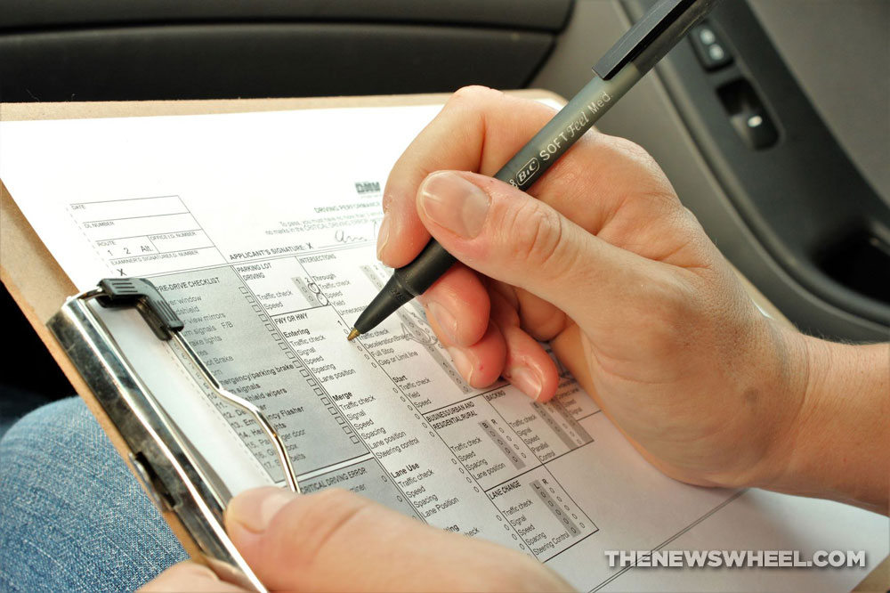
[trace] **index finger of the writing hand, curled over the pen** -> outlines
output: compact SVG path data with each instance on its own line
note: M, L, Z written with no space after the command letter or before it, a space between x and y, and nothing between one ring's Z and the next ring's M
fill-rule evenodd
M409 264L430 240L415 201L427 175L442 169L494 175L553 116L554 110L542 103L484 86L454 93L386 180L385 217L377 237L380 261L393 268Z

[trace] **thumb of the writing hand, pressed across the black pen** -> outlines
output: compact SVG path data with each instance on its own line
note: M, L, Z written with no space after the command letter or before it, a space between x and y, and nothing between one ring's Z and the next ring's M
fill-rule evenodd
M440 171L417 213L441 246L474 270L558 306L576 321L620 303L643 258L598 239L545 202L496 179ZM583 326L582 326L583 327Z

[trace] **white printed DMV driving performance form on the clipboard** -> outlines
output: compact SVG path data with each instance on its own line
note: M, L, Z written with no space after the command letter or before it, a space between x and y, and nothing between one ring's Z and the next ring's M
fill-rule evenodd
M151 278L223 386L278 428L305 491L350 488L582 590L852 588L886 556L886 517L677 483L568 375L546 405L467 386L416 305L346 342L389 273L374 253L385 177L439 109L3 122L0 178L78 288ZM151 377L172 354L128 329L136 313L104 318L232 491L281 482L247 418L184 375ZM604 555L656 548L865 549L869 565L621 571Z

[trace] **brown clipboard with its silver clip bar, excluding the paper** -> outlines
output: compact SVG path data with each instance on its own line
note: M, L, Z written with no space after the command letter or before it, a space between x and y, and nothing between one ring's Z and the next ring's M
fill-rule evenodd
M534 99L562 99L543 91L520 91ZM441 103L447 94L326 99L270 99L187 102L109 102L5 104L5 120L142 117L305 110L333 107L401 106ZM741 277L740 277L741 278ZM94 323L88 301L99 293L75 295L36 232L0 185L0 280L25 313L61 370L117 449L143 489L154 500L190 556L229 581L264 590L262 583L225 534L222 516L228 493L165 418L151 394L127 368L114 340ZM100 279L97 279L100 280ZM749 295L765 313L789 324L747 280ZM68 299L68 300L66 300ZM790 325L790 324L789 324ZM193 354L193 353L192 353ZM129 378L125 384L120 378ZM206 380L212 378L205 377ZM212 381L211 381L212 382Z

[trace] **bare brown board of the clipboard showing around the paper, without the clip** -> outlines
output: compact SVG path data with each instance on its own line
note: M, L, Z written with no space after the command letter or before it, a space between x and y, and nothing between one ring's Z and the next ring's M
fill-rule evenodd
M554 93L540 90L512 92L532 99L564 100ZM448 94L387 95L373 97L330 97L303 99L250 99L213 101L151 101L151 102L70 102L70 103L3 103L0 120L22 121L75 118L127 118L168 115L200 115L213 113L241 113L250 111L311 110L337 107L401 106L442 103ZM96 401L93 393L77 369L62 351L46 323L59 311L65 299L77 293L77 288L62 272L43 241L22 215L9 191L0 180L0 280L9 290L22 313L44 342L53 359L84 400L89 410L109 436L117 452L136 473L129 461L131 452L117 427ZM97 279L98 280L98 279ZM790 326L789 321L740 275L748 293L766 313ZM194 558L201 558L189 532L172 512L163 513L176 537ZM886 560L854 590L886 589L890 580L890 562ZM883 583L883 587L882 584Z

